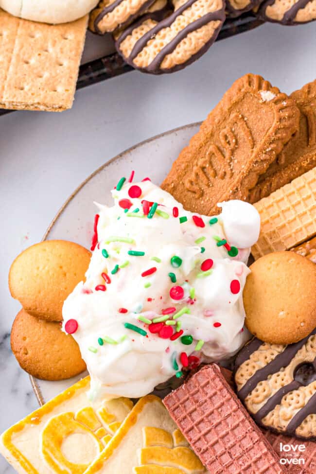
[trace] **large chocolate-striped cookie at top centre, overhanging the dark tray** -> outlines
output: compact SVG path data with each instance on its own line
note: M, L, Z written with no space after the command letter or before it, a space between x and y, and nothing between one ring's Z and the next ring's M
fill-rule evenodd
M121 31L116 49L143 72L161 74L183 69L204 54L225 20L223 0L173 0L168 9L144 15Z

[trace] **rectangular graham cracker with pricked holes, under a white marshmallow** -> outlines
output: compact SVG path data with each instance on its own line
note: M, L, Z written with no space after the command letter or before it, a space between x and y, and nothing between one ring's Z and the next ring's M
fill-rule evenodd
M70 108L87 24L88 16L48 25L0 9L0 108Z

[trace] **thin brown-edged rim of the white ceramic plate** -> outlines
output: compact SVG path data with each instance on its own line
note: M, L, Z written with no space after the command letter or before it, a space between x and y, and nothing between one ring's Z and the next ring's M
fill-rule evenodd
M126 148L126 150L124 150L123 152L119 153L118 155L116 155L115 157L113 158L110 158L108 161L106 161L104 164L102 164L101 166L99 166L95 171L93 171L84 181L82 181L79 186L77 186L77 188L70 194L70 196L66 199L66 201L63 203L63 205L59 208L59 210L57 211L57 213L55 214L55 216L53 217L53 220L51 221L50 225L48 226L48 228L46 229L42 239L41 239L41 242L43 242L44 240L47 240L47 238L49 237L49 234L55 224L55 222L57 221L57 219L61 216L61 214L64 212L65 208L68 206L68 204L72 201L72 199L74 199L74 197L79 193L79 191L84 187L86 186L86 184L96 175L98 175L102 170L104 170L104 168L106 168L108 165L110 165L111 163L113 163L113 161L116 161L120 158L123 158L124 155L126 155L127 153L130 153L132 151L134 151L136 148L139 148L140 146L142 145L145 145L146 143L150 143L151 141L154 141L154 140L157 140L159 138L162 138L162 137L165 137L166 135L172 135L173 133L176 133L178 131L182 131L186 128L191 128L191 127L194 127L194 126L198 126L198 125L201 125L202 122L198 121L198 122L193 122L193 123L188 123L186 125L181 125L179 127L176 127L176 128L173 128L171 130L166 130L165 132L162 132L162 133L158 133L157 135L154 135L153 137L150 137L150 138L147 138L146 140L142 140L140 141L139 143L136 143L135 145L129 147L129 148ZM43 406L46 402L44 400L44 397L43 397L43 394L41 392L41 389L40 387L37 385L36 383L36 379L35 377L33 377L33 375L29 375L29 379L30 379L30 382L31 382L31 386L32 386L32 389L35 393L35 397L37 399L37 402L39 403L40 406Z

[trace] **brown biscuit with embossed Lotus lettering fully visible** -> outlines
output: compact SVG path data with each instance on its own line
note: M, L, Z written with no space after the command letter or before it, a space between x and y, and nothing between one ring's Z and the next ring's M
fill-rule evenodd
M246 74L182 150L162 188L189 211L217 214L218 202L246 199L298 121L292 99L261 76Z

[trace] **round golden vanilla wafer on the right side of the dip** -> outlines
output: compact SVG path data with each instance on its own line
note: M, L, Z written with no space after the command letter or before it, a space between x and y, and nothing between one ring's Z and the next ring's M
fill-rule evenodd
M316 266L294 252L264 255L244 288L246 327L270 344L292 344L316 327Z

